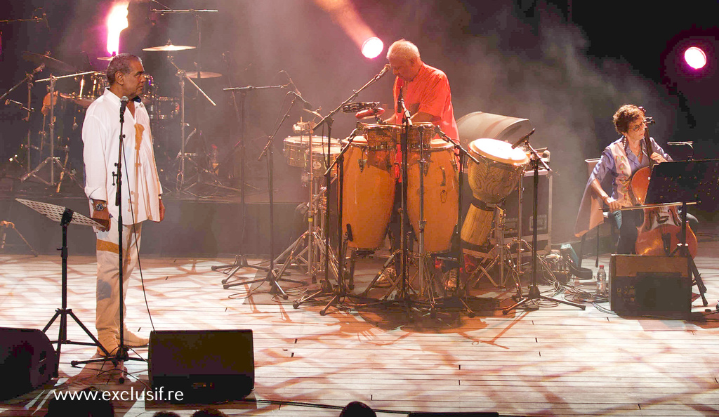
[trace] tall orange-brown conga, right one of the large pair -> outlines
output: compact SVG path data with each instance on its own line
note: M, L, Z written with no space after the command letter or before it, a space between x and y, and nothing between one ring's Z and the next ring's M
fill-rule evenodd
M431 130L434 134L434 128ZM419 138L419 136L417 137ZM417 140L416 144L421 142ZM423 142L422 142L423 143ZM431 148L424 150L424 251L446 252L450 249L452 233L457 224L459 186L457 159L452 144L442 139L430 140ZM419 234L420 150L410 150L407 182L407 210L415 233Z

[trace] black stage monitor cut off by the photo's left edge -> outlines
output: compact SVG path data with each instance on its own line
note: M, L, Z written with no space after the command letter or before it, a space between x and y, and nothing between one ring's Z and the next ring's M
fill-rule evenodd
M37 329L0 327L0 400L45 385L58 367L58 355Z

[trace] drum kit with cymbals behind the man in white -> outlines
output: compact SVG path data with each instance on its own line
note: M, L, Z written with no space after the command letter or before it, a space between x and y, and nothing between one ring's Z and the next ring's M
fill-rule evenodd
M205 96L211 104L214 102L207 96L199 86L195 83L196 80L206 78L218 78L221 77L220 73L212 73L205 71L184 71L174 64L172 57L169 55L170 52L176 52L181 50L194 49L193 46L186 45L173 45L168 42L166 45L157 47L145 48L145 51L157 51L167 52L168 60L171 65L178 71L178 77L180 77L180 90L184 92L184 83L189 81ZM22 167L23 175L20 177L21 182L28 180L29 178L35 178L41 183L49 187L55 188L55 192L60 192L60 187L65 179L71 179L78 186L81 186L75 175L75 170L72 167L72 162L68 160L70 154L70 147L77 146L75 144L81 143L80 132L78 127L81 127L85 111L97 98L102 96L105 89L108 87L108 81L105 73L89 70L89 71L78 71L73 65L64 63L58 59L50 56L50 52L45 54L38 54L35 52L23 52L22 58L31 63L39 65L31 73L27 74L27 77L18 83L16 86L10 89L2 98L5 98L9 93L14 91L23 83L27 83L28 86L28 102L27 107L25 104L19 103L23 109L29 109L32 111L32 95L30 90L35 83L47 83L47 93L43 98L42 104L42 130L39 132L40 142L37 145L32 144L31 133L28 132L27 141L22 144L19 155L22 155ZM99 57L99 60L109 61L113 56ZM51 74L47 78L35 80L35 75L40 73L42 70L49 69ZM56 75L61 73L63 75ZM160 94L160 88L152 78L152 75L146 75L145 92L142 96L142 101L145 103L147 112L150 116L151 129L153 136L159 140L155 141L156 155L158 168L160 171L165 171L169 168L168 165L173 164L172 155L173 152L163 148L168 147L168 140L163 138L169 136L170 127L174 124L179 123L182 131L182 142L180 145L180 152L177 153L178 160L178 189L183 188L184 181L184 162L190 160L193 157L193 162L198 165L199 171L206 171L216 173L216 170L209 170L203 167L205 162L209 163L210 155L197 155L189 154L185 152L185 145L187 142L186 135L184 132L184 118L185 108L184 100L182 97L174 96L162 96ZM13 101L13 103L15 103ZM29 115L28 115L29 117ZM49 138L54 138L50 140ZM64 152L64 157L61 159L57 154L58 152ZM40 155L40 163L32 167L32 152L37 151ZM27 153L26 153L27 152ZM49 152L49 156L45 157ZM208 152L210 152L208 150ZM163 157L164 155L164 157ZM45 157L45 159L42 159ZM164 159L163 159L164 158ZM27 164L27 165L26 165ZM41 171L43 168L49 168L49 178L43 178L44 176ZM59 173L56 174L56 171Z

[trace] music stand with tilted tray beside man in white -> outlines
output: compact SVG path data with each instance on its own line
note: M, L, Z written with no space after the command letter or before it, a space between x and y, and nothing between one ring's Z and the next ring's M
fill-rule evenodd
M50 326L55 323L55 320L60 317L60 331L58 334L58 340L50 342L58 344L58 365L55 367L55 377L58 376L58 368L60 367L60 351L62 350L63 344L80 344L83 346L99 347L100 349L102 349L106 356L109 356L110 352L107 352L107 350L102 346L100 341L92 334L91 331L88 330L88 328L82 323L82 321L78 319L78 316L75 316L75 313L73 313L72 308L68 308L68 225L80 224L81 226L96 227L102 227L102 225L94 221L93 219L89 219L82 214L75 213L74 211L63 206L56 206L55 204L50 203L42 203L41 201L24 200L22 198L15 198L15 201L17 201L18 203L22 203L25 206L28 206L30 209L37 211L38 213L47 217L47 219L50 219L52 221L58 221L60 223L60 226L63 227L63 246L60 247L60 257L63 258L62 306L55 310L55 316L52 316L52 319L50 319L50 321L48 321L45 325L45 328L42 329L42 332L45 333L47 329L50 329ZM80 326L81 329L85 331L85 333L90 337L90 339L93 340L93 343L73 342L68 339L68 316L72 317L73 320L75 320L75 323L77 323L78 326Z

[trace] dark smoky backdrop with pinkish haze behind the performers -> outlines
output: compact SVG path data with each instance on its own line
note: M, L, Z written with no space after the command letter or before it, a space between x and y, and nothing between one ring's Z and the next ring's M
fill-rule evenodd
M287 83L287 71L303 96L321 113L338 106L364 85L385 64L383 54L375 60L362 57L352 38L312 0L164 0L173 9L219 9L201 20L200 50L175 53L175 63L194 70L222 73L222 78L200 81L216 101L212 107L186 86L188 132L200 128L189 147L203 149L212 144L228 161L233 175L242 161L234 145L239 139L239 119L228 86L273 86ZM9 0L4 1L1 19L27 19L37 7L47 14L45 24L0 24L2 51L0 91L22 80L37 65L22 59L22 51L52 56L78 70L104 70L104 18L111 0ZM418 45L423 60L446 72L452 86L457 119L473 111L530 119L536 134L535 147L549 147L554 177L554 242L574 239L574 218L587 173L584 159L597 157L603 147L618 137L611 123L622 104L644 106L656 119L651 134L660 144L695 142L696 157L716 154L718 91L715 75L718 48L715 28L719 6L716 1L692 1L659 6L652 1L462 1L398 0L353 2L364 22L389 45L406 38ZM159 5L154 7L160 8ZM188 15L154 16L163 38L175 45L197 45L197 22ZM682 65L679 52L687 42L702 42L710 63L699 73ZM223 55L224 52L224 55ZM178 80L164 61L162 52L146 60L155 77L156 93L178 97ZM89 58L89 59L88 59ZM44 70L37 78L58 71ZM383 78L367 88L360 101L391 102L392 78ZM45 96L45 83L33 89L33 107ZM72 92L73 82L60 91ZM65 90L63 90L65 89ZM248 182L261 192L267 171L257 162L262 147L289 99L286 91L262 90L247 94ZM26 100L25 87L10 98ZM240 97L236 97L239 101ZM391 106L390 106L391 107ZM0 104L0 157L5 161L17 151L27 132L22 111ZM290 116L275 142L275 181L278 198L301 201L298 169L282 156L282 139L290 136L291 124L311 116L301 109ZM41 128L36 112L32 134ZM337 114L333 137L345 137L355 119ZM176 154L180 139L177 124L164 134L155 132L168 155ZM70 128L66 128L70 129ZM174 130L173 130L174 129ZM68 130L70 132L70 130ZM81 152L79 129L68 133L73 157ZM33 136L35 138L35 136ZM35 139L33 139L35 140ZM671 152L671 150L670 150ZM75 162L81 170L81 163ZM165 184L167 187L167 184ZM704 225L713 214L700 212Z

